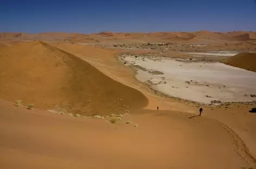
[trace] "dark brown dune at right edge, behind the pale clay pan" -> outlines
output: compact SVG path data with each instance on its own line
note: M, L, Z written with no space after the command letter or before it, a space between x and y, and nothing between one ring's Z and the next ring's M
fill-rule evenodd
M223 62L230 66L256 72L256 53L240 53L223 60Z

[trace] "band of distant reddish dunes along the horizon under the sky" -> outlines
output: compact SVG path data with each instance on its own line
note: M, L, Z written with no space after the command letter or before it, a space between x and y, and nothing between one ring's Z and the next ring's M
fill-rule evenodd
M146 42L176 42L188 43L209 41L216 42L251 42L256 40L256 32L234 31L234 32L110 32L103 31L97 34L79 34L76 32L43 32L40 34L27 33L0 33L0 39L12 40L47 40L47 41L66 41L66 42L86 42L100 43L123 41L129 43L146 43Z

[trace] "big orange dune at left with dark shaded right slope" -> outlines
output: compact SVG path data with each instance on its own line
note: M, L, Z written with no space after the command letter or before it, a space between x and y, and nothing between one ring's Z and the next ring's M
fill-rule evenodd
M148 105L138 90L43 42L1 48L0 64L0 98L5 100L89 115L121 113Z

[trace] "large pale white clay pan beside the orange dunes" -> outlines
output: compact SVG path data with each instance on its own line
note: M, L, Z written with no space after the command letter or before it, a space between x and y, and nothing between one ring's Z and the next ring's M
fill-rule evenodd
M139 81L175 98L207 104L214 100L256 100L256 73L244 69L223 63L182 62L166 57L123 55L121 60L138 68L136 78Z

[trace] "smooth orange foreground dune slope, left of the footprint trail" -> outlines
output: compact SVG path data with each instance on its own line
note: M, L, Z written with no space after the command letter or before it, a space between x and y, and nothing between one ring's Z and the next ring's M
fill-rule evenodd
M247 160L252 163L249 156L241 159L233 151L232 135L209 118L191 118L193 115L179 112L148 113L126 116L112 125L105 120L29 111L1 100L1 166L246 168L250 166ZM139 127L127 125L125 120L136 121Z

